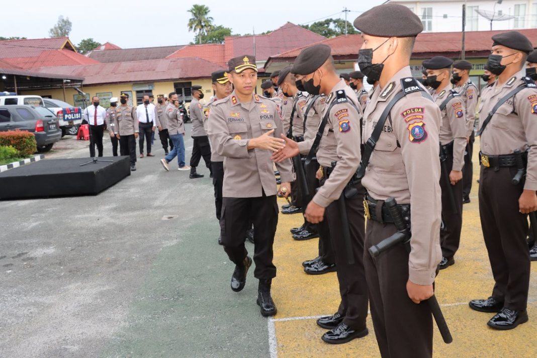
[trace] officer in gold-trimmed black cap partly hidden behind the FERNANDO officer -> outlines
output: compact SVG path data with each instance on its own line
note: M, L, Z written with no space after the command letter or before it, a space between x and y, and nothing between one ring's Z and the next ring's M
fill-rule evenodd
M209 114L211 113L211 107L215 101L224 99L231 94L231 83L229 82L228 72L215 71L211 74L211 80L213 82L213 91L215 96L205 105L203 108L204 115L204 129L208 131L209 126ZM211 142L211 137L209 137ZM222 214L222 185L224 182L224 157L220 156L216 150L216 145L211 143L211 167L213 169L213 187L214 187L214 205L216 207L216 218L220 222ZM222 237L218 236L218 243L222 245Z

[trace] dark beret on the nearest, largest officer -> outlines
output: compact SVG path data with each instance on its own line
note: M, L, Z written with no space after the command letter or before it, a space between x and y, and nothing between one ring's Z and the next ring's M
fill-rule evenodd
M377 37L411 37L423 31L422 20L407 6L382 4L362 13L354 27Z

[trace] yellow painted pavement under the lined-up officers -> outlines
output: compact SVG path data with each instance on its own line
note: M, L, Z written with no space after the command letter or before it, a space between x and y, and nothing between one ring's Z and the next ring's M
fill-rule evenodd
M453 335L446 345L434 328L434 357L535 357L537 356L537 262L532 263L529 284L529 322L511 331L496 331L487 326L491 313L471 310L468 302L487 298L492 273L483 243L477 204L478 140L474 145L474 184L471 203L465 204L461 245L455 265L442 270L436 280L436 295ZM425 198L426 199L426 198ZM281 206L286 203L278 199ZM289 229L300 226L300 214L279 216L274 242L274 263L278 276L273 283L273 298L278 305L275 316L275 349L278 357L380 357L371 316L369 335L344 345L329 345L321 340L325 330L312 316L330 315L337 311L339 289L336 273L311 276L303 273L301 263L317 256L317 239L293 240ZM304 319L306 318L306 319ZM269 325L270 325L269 324ZM274 342L273 342L274 344Z

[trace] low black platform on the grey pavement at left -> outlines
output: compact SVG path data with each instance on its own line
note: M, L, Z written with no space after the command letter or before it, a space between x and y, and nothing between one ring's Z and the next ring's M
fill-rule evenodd
M0 200L97 195L130 175L129 157L45 159L0 173Z

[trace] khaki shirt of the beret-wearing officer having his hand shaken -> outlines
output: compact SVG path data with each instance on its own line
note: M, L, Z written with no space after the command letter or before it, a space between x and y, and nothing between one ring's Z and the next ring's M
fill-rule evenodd
M321 118L324 117L330 104L337 101L338 96L342 95L346 95L347 101L338 103L330 109L323 137L317 149L317 162L320 165L330 167L332 162L337 162L330 177L313 198L313 201L323 208L339 199L343 189L358 169L361 160L360 119L362 113L360 103L354 91L345 84L343 78L326 97L326 105ZM309 151L313 142L313 139L300 142L298 144L299 150L301 152Z

